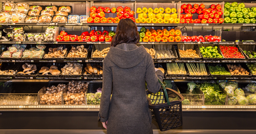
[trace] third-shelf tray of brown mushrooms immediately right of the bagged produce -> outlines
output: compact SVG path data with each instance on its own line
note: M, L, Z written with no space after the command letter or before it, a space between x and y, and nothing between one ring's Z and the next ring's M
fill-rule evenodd
M44 59L64 59L67 54L66 46L50 47L48 53L44 55Z

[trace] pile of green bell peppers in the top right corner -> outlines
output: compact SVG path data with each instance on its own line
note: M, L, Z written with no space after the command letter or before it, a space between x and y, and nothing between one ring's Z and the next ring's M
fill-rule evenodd
M245 8L244 3L224 4L224 23L255 23L256 8Z

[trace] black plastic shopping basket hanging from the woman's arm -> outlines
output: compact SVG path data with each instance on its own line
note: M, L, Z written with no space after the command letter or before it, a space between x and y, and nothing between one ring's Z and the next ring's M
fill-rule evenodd
M158 79L163 88L154 94L147 90L147 99L152 118L158 123L160 131L166 131L177 128L182 125L182 106L184 97L178 92L165 88Z

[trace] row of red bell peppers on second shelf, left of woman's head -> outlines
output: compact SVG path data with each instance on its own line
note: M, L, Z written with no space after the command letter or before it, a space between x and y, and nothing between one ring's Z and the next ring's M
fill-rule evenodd
M68 35L67 32L61 31L60 35L57 36L57 41L112 41L112 37L115 35L113 31L95 31L83 32L80 36Z

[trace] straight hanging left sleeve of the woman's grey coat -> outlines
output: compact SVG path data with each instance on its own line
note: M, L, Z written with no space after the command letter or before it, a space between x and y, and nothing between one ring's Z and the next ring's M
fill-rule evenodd
M103 61L103 78L102 78L102 93L100 98L99 121L106 122L108 120L108 110L110 104L110 96L112 91L112 70L106 64L107 60Z

